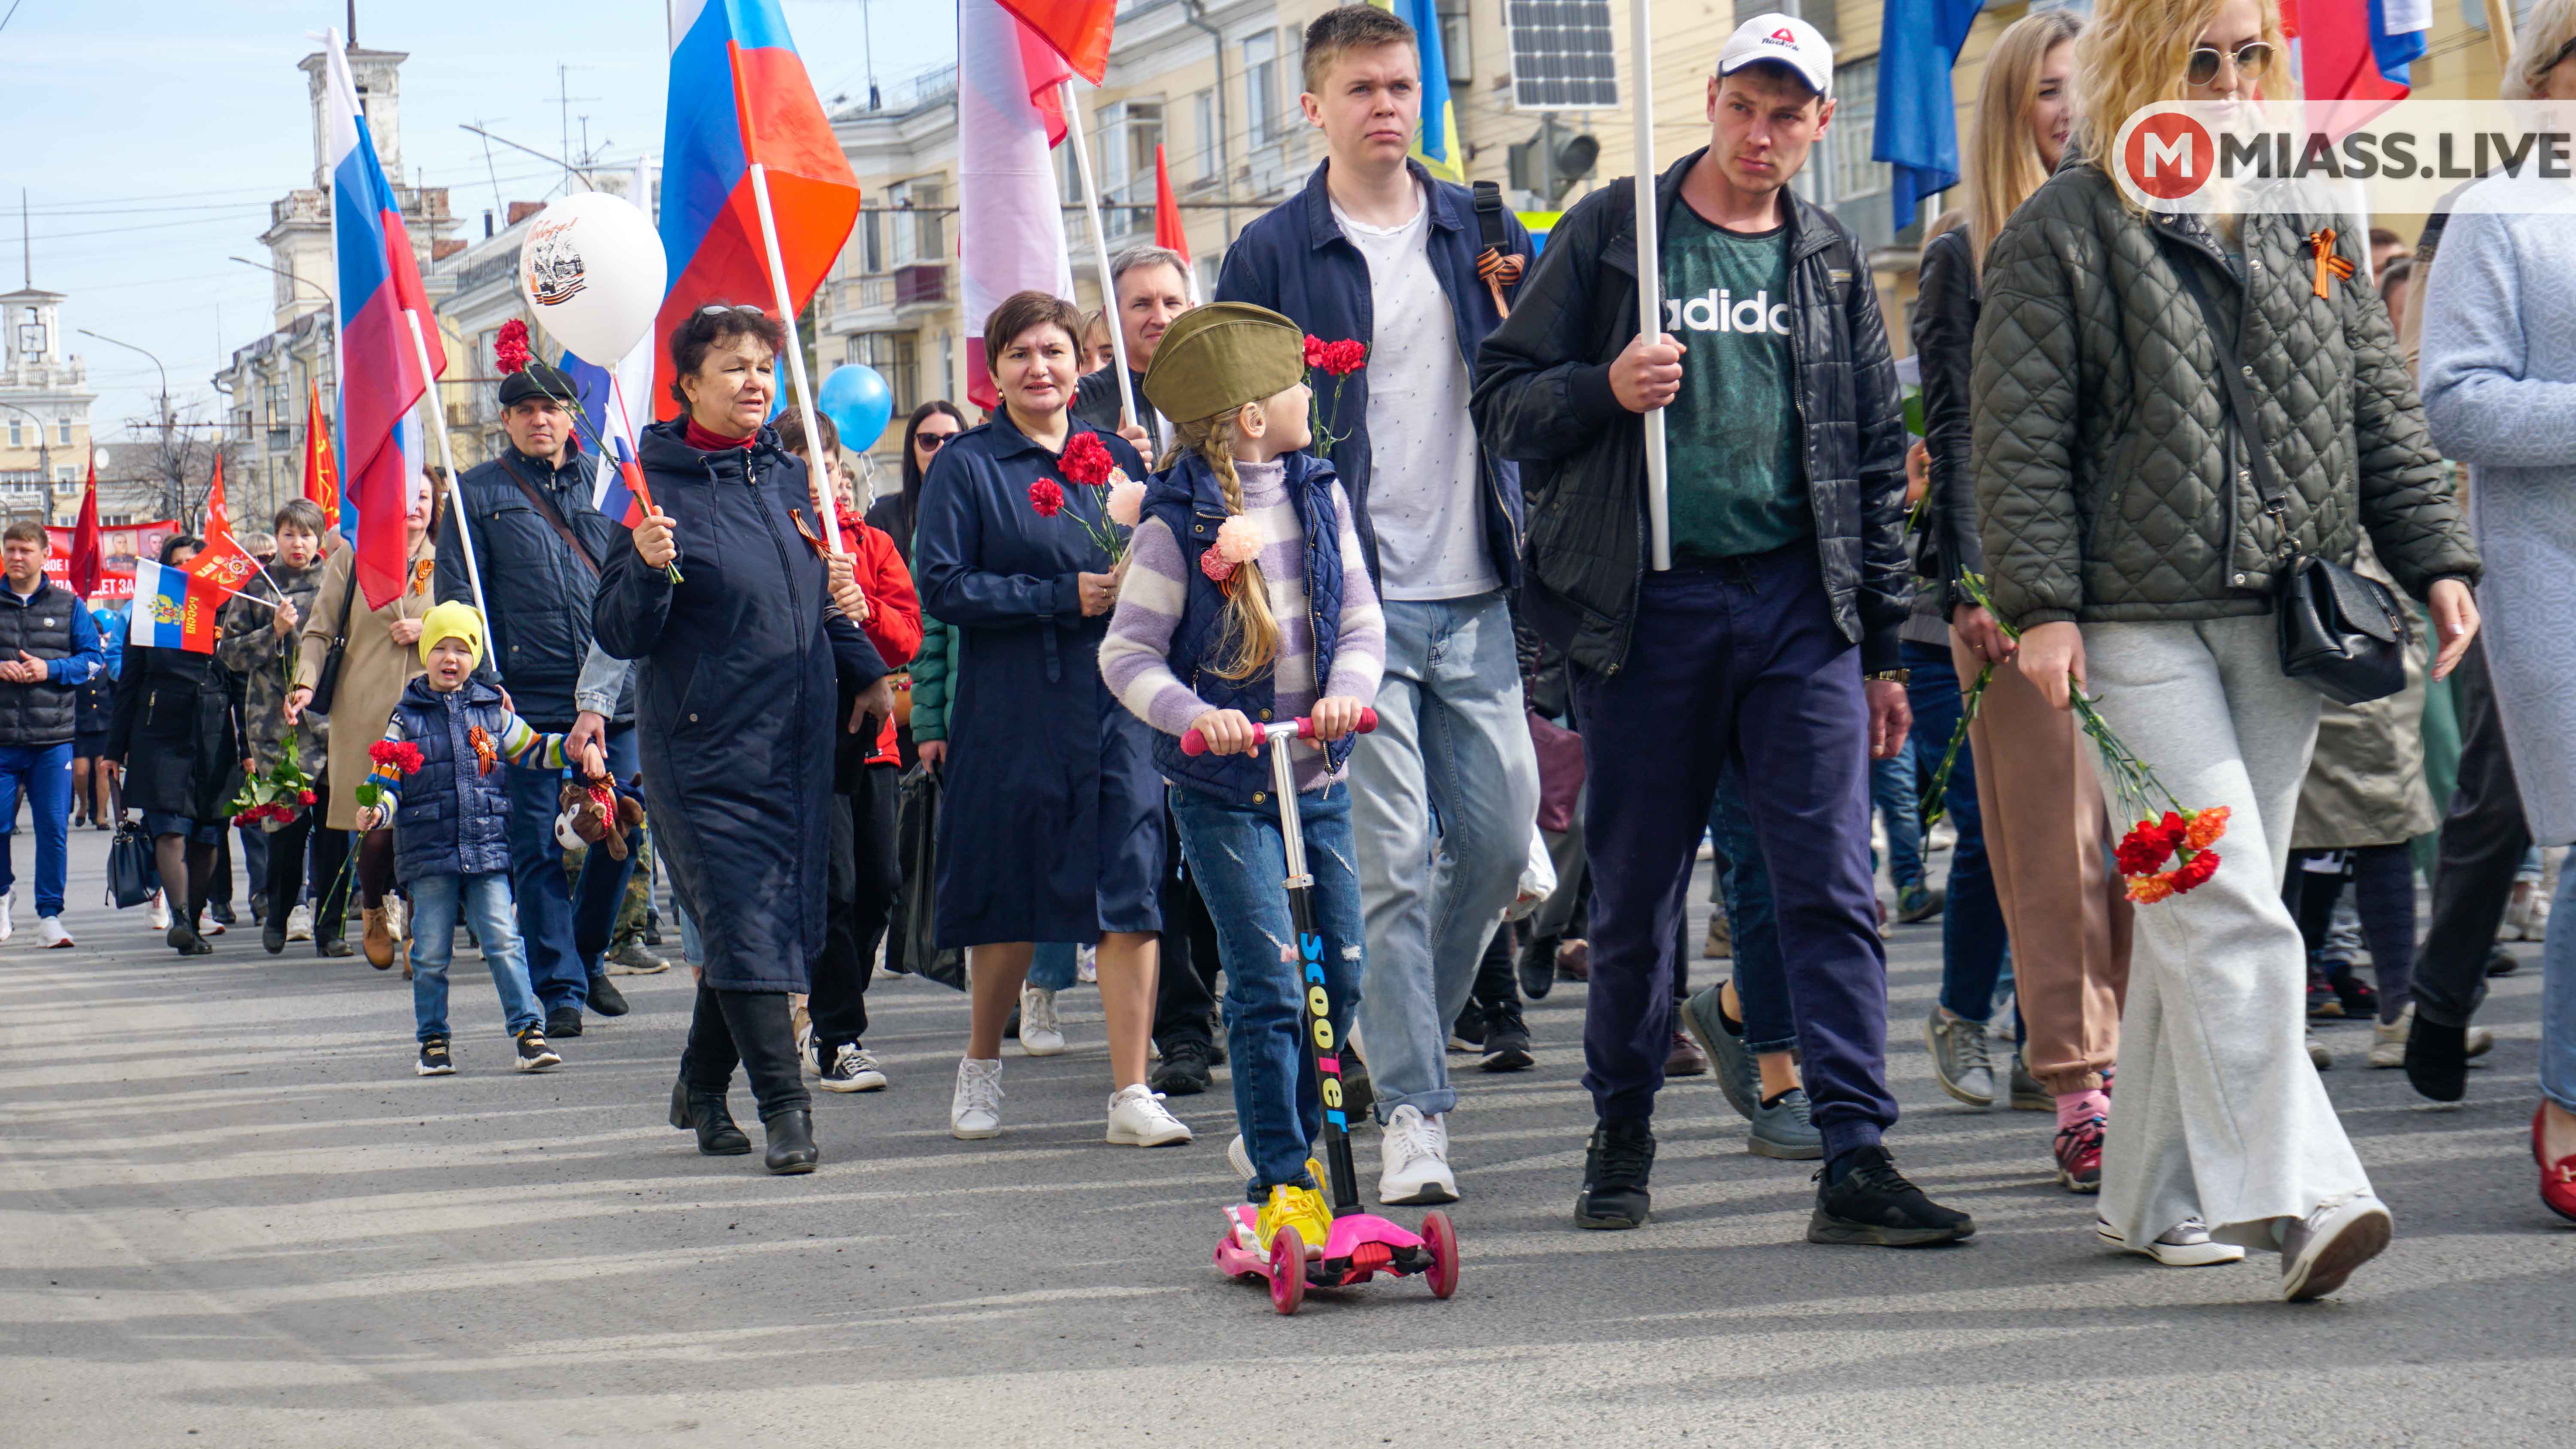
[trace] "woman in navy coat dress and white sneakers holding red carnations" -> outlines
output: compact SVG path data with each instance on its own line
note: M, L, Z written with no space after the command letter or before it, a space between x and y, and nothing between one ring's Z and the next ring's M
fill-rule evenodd
M1151 734L1100 682L1115 582L1079 517L1097 489L1069 486L1064 445L1092 432L1069 412L1082 314L1023 291L984 324L1002 409L940 448L922 489L912 571L922 613L958 631L940 808L938 934L966 947L974 1022L948 1130L1002 1132L1002 1022L1028 978L1030 942L1100 939L1110 1029L1108 1140L1188 1143L1144 1084L1154 1027L1162 780ZM1131 479L1144 461L1100 435ZM1041 517L1030 484L1064 489Z

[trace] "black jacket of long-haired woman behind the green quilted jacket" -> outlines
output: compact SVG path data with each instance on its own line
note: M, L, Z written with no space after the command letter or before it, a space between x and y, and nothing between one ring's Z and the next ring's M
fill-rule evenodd
M1976 468L1968 466L1968 443L1976 432L1968 373L1976 363L1978 306L1984 306L1984 296L1976 288L1968 229L1953 226L1924 247L1914 299L1914 358L1919 358L1924 376L1924 448L1932 453L1924 538L1914 558L1924 582L1914 595L1914 623L1932 620L1932 628L1940 631L1947 628L1950 610L1968 602L1965 589L1958 587L1960 571L1986 571L1986 546L1976 535ZM1909 633L1927 643L1945 638L1917 628Z

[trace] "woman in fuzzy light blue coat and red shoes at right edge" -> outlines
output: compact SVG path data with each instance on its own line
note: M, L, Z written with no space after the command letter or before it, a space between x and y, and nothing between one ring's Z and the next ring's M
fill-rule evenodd
M2504 98L2576 108L2576 0L2543 0L2524 15ZM2496 564L2486 587L2494 631L2481 643L2494 700L2483 708L2504 726L2512 785L2530 821L2527 839L2537 844L2576 842L2576 703L2568 697L2568 667L2576 661L2568 638L2568 579L2576 579L2571 275L2576 201L2568 185L2491 178L2468 188L2452 208L2424 283L2424 412L2442 453L2470 468L2478 538ZM2540 947L2532 1158L2540 1202L2576 1220L2576 870L2558 880L2558 909ZM2488 901L2496 901L2486 911L2494 929L2501 893ZM2483 960L2483 952L2470 960ZM2416 993L2406 1076L2427 1096L2458 1102L2476 1055L2468 1017L2486 983L2483 970L2445 975L2450 981L2439 988Z

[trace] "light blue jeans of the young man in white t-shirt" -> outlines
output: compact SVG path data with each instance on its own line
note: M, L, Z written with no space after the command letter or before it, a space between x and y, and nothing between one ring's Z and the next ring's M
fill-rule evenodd
M1368 965L1360 1053L1378 1122L1458 1104L1448 1024L1520 893L1538 826L1538 754L1502 595L1386 602L1378 731L1350 754Z

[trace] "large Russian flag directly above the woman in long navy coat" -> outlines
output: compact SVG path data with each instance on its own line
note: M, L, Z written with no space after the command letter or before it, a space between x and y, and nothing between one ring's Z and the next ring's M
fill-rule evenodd
M796 59L778 0L670 0L670 100L662 124L662 250L670 293L654 340L711 301L778 309L752 167L762 167L801 311L858 224L858 178ZM677 417L670 355L654 347L652 407Z

